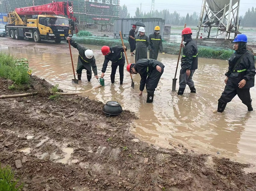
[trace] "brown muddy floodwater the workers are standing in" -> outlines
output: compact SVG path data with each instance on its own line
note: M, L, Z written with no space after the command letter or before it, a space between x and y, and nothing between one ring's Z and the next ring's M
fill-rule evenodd
M68 47L65 47L68 48ZM90 46L94 50L99 75L103 63L100 47ZM30 60L34 75L45 78L52 84L59 84L64 91L86 91L99 82L93 78L87 82L85 72L79 84L71 84L73 72L68 50L65 53L45 53L34 47L0 47L1 51L10 52L17 57ZM61 52L61 51L60 51ZM76 65L77 51L72 48ZM128 56L134 62L135 56ZM132 124L132 132L140 139L173 148L183 144L190 150L202 151L219 156L230 157L240 162L256 164L256 113L247 112L236 96L222 114L213 114L217 100L224 89L224 73L227 61L199 58L198 70L194 75L196 94L191 94L187 87L183 96L172 92L172 78L177 64L176 55L160 54L158 60L165 65L164 74L156 88L154 103L147 104L146 91L139 97L140 76L133 75L135 88L131 89L129 73L125 72L124 84L119 85L117 72L115 84L110 82L110 65L105 73L105 87L82 94L90 99L102 102L116 100L123 109L129 109L139 116ZM179 70L177 77L179 76ZM178 90L177 81L176 90ZM256 89L251 89L255 105ZM177 146L179 149L179 147ZM218 154L217 154L218 153Z

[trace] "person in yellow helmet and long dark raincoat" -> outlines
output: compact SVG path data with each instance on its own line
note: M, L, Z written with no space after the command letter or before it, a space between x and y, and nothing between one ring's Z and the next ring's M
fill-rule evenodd
M156 26L154 33L150 34L148 37L149 40L149 59L157 60L158 52L163 51L162 45L162 36L160 35L160 27Z

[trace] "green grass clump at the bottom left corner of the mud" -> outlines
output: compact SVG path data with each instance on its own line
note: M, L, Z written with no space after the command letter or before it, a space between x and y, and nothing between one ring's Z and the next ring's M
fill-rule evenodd
M23 188L23 184L17 186L19 182L14 179L14 173L10 166L6 166L4 168L1 167L0 163L0 190L3 191L18 191Z

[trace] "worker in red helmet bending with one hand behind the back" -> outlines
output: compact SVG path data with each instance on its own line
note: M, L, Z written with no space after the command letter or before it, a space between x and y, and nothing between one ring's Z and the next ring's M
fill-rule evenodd
M154 59L140 59L136 64L128 64L127 71L131 74L140 74L140 96L145 88L147 89L147 103L152 103L157 84L164 72L164 64Z

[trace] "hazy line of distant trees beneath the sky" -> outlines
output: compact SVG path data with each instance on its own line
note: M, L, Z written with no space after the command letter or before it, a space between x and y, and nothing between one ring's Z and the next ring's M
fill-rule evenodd
M168 9L164 9L161 11L155 10L154 12L141 12L140 8L137 7L135 11L135 15L132 17L130 13L128 13L127 6L124 4L119 7L119 18L163 18L165 20L166 25L182 25L187 23L187 25L197 25L199 21L199 13L196 11L193 14L188 14L185 16L180 16L180 13L174 11L170 13ZM248 9L243 16L240 16L240 25L242 26L256 26L256 8L252 7L252 9Z

